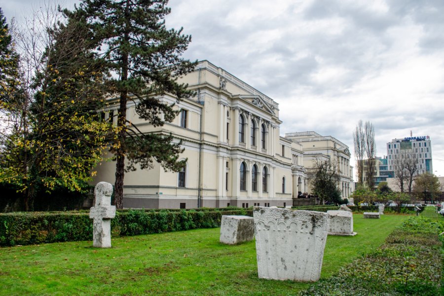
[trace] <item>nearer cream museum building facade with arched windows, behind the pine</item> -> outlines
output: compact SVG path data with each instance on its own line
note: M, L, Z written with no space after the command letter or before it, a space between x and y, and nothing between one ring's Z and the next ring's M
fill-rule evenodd
M153 127L139 119L130 101L127 119L143 133L171 132L183 141L185 178L155 162L151 170L126 173L123 206L291 206L292 197L304 191L303 146L279 136L278 104L208 61L199 62L179 82L196 92L194 98L176 105L185 111L185 122L180 114L171 123ZM176 102L171 95L159 100ZM117 100L109 102L106 118L118 108ZM115 162L103 162L97 171L95 183L114 183Z

